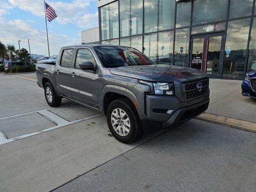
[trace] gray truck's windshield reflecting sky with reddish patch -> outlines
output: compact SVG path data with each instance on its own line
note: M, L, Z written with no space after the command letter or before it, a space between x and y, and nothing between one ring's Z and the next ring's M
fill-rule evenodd
M154 62L133 48L96 46L94 49L106 68L154 64Z

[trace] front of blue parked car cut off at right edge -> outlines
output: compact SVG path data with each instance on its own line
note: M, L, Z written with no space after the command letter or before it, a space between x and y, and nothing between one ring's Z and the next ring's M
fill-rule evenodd
M256 70L246 74L242 83L242 95L256 99Z

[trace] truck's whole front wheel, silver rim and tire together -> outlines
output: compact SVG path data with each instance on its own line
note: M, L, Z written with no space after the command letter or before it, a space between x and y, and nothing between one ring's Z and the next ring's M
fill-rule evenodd
M131 143L143 135L138 112L128 99L110 103L106 116L108 128L118 141Z

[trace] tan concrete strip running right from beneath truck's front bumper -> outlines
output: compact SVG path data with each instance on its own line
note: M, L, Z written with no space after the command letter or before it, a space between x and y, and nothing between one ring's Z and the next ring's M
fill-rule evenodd
M256 133L256 123L250 121L210 113L203 113L196 119Z

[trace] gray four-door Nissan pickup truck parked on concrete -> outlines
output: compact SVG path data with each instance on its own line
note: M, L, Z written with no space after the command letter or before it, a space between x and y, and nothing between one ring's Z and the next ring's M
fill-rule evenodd
M126 46L66 46L56 64L38 63L36 74L49 106L67 98L98 110L106 115L112 135L124 143L190 120L209 105L205 74L157 65Z

